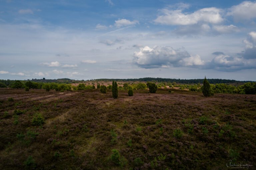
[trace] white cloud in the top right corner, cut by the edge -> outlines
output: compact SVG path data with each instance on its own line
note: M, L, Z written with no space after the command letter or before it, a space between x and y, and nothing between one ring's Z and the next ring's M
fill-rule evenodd
M227 13L233 16L235 21L248 21L256 18L256 2L244 1L239 5L232 6Z

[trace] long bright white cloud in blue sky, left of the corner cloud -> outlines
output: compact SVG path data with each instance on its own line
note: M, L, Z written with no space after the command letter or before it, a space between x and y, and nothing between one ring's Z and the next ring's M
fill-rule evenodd
M193 25L198 23L218 24L223 21L218 8L203 8L191 14L182 13L182 10L162 9L164 15L154 20L157 24L164 25Z

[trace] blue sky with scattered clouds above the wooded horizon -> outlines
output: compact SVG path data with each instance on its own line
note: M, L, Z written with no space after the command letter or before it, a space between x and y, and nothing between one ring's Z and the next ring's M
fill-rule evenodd
M0 0L0 79L255 73L256 1Z

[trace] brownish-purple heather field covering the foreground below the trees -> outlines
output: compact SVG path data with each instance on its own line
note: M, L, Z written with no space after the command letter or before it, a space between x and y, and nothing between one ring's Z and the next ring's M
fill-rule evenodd
M254 169L255 153L256 95L0 88L0 169Z

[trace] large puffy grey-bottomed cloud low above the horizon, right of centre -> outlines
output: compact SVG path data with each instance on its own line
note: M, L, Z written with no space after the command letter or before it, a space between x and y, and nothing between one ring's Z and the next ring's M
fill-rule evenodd
M184 49L173 49L170 46L145 46L140 51L135 51L133 57L133 62L142 68L204 65L199 55L192 56Z

